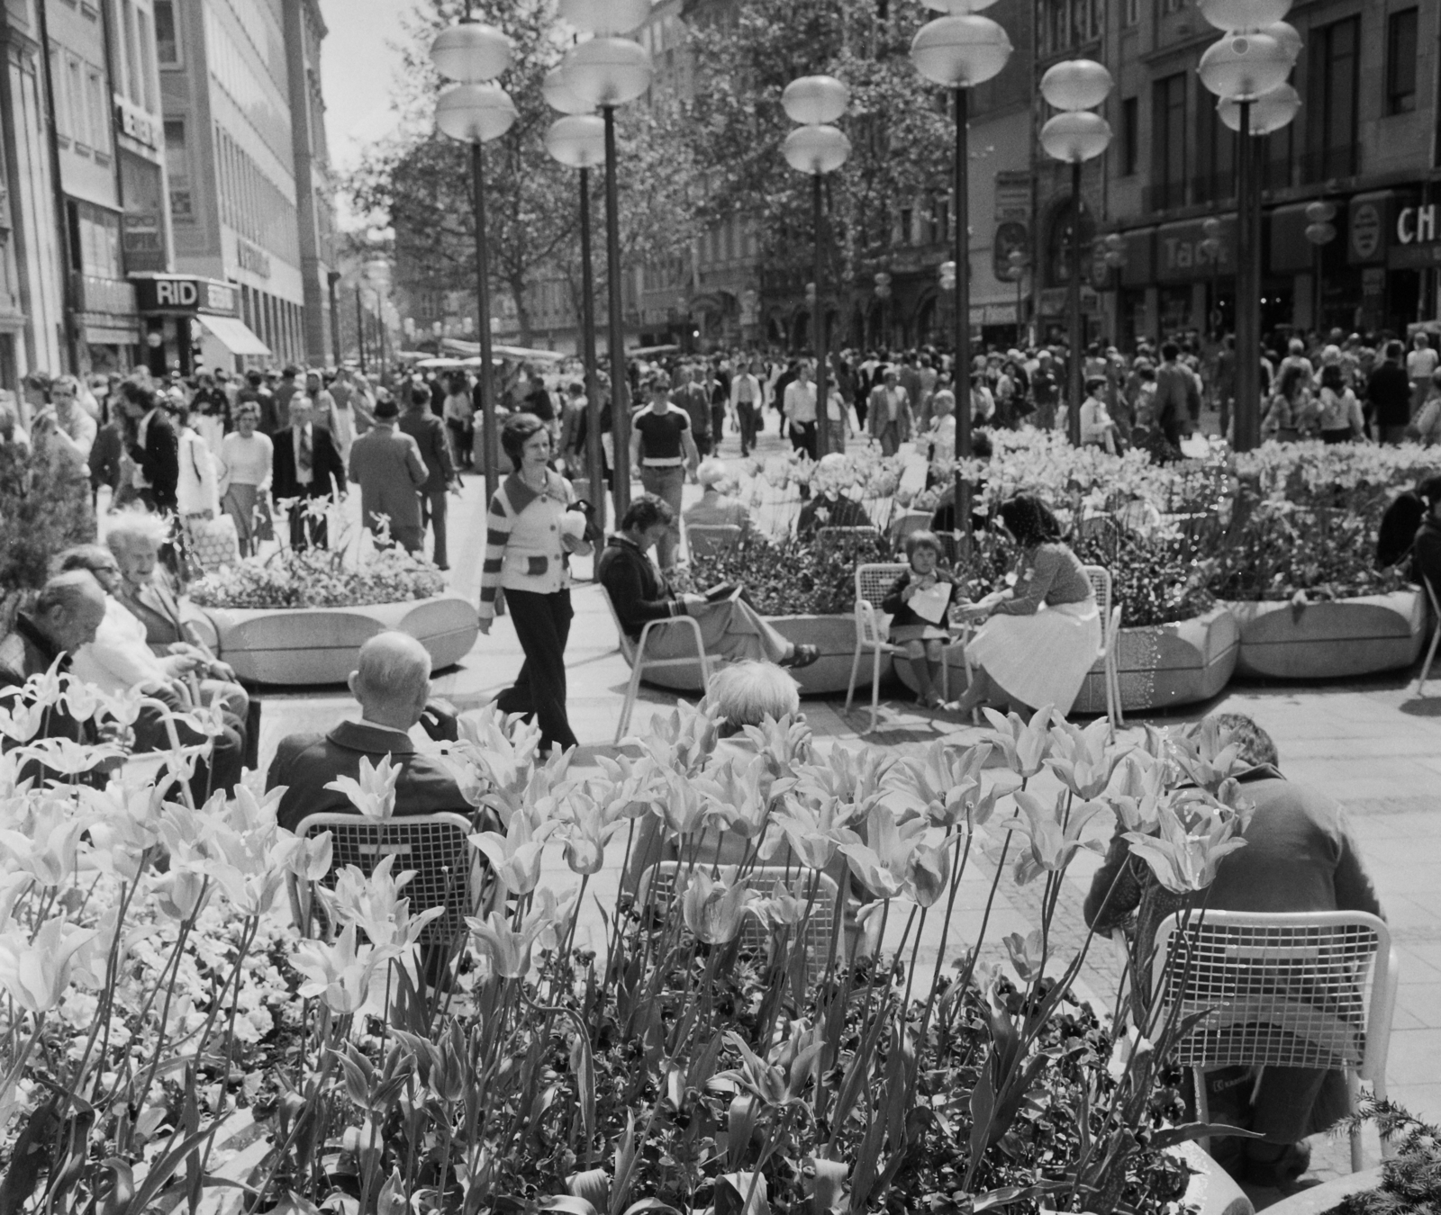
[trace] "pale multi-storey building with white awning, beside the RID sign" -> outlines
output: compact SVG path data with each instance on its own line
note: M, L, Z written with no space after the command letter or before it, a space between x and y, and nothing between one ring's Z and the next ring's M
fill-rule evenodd
M331 219L318 6L154 6L176 268L203 282L195 305L157 308L151 333L182 366L196 338L212 364L324 361Z

